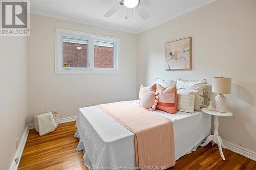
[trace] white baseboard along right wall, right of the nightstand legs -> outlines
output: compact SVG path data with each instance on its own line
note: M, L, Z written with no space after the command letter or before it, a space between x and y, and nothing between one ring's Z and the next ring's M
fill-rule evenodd
M223 140L223 143L226 145L227 149L229 149L230 151L236 152L238 154L243 154L244 150L245 150L245 154L243 154L242 156L245 156L247 158L250 158L250 159L256 161L256 153L255 152L250 151L250 150L245 149L245 148L243 150L238 145L230 143L230 142L227 142L225 140Z

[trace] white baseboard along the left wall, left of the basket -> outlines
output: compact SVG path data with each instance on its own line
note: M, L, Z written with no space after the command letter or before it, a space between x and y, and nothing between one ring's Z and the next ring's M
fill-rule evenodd
M14 158L12 160L12 163L11 163L11 166L10 166L9 170L16 170L18 168L18 164L19 164L20 158L22 157L22 153L23 153L23 150L24 150L24 147L25 147L28 135L29 135L29 128L27 126L25 131L24 131L24 133L23 133L23 135L22 135L22 138L20 139L18 148L16 150L15 156L14 156ZM16 163L15 159L17 157L19 157L19 160Z

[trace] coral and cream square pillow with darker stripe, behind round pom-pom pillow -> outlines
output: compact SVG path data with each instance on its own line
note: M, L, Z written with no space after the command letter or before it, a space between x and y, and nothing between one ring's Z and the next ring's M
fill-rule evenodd
M176 85L169 88L164 88L160 84L157 84L157 92L159 92L159 99L156 108L168 113L176 114L178 96Z

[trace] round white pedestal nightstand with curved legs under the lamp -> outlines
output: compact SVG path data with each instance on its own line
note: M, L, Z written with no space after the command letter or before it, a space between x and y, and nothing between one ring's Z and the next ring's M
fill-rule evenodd
M211 114L214 115L214 135L210 135L207 137L206 141L204 143L201 144L201 147L204 147L205 145L207 145L210 141L213 141L214 143L218 144L219 147L219 151L221 154L221 158L223 160L225 160L225 157L223 155L222 152L222 148L224 149L226 148L226 146L224 145L224 143L222 142L222 138L219 136L219 132L218 132L218 127L219 127L219 116L232 116L233 113L231 112L225 112L225 113L221 113L221 112L217 112L217 111L209 111L208 108L203 108L202 112L207 113L207 114Z

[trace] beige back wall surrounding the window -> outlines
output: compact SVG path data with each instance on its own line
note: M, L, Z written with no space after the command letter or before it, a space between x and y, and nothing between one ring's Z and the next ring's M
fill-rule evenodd
M56 75L55 27L119 37L120 74ZM31 15L28 38L28 106L32 115L60 111L60 118L76 116L88 105L136 98L136 35L76 22Z

